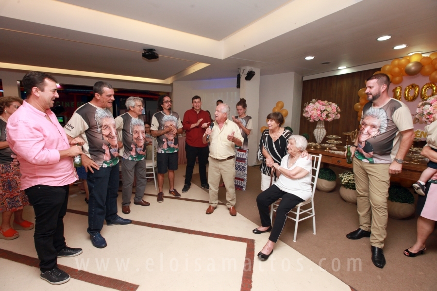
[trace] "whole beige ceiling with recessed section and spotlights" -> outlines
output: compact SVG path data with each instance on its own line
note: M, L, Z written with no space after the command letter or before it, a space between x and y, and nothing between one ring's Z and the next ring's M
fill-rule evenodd
M186 81L235 78L242 66L308 76L437 50L436 0L332 0L332 11L320 0L39 0L52 17L26 11L30 1L0 0L1 63ZM158 61L141 58L147 48ZM210 65L186 69L198 63Z

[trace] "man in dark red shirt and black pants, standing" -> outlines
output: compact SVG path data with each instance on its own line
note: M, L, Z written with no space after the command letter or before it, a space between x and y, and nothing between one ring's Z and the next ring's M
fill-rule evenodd
M188 189L190 189L196 158L199 158L201 186L209 190L208 181L206 179L206 163L208 162L209 147L208 144L203 144L202 136L211 123L211 119L209 118L209 114L201 108L201 97L194 96L191 98L191 102L193 103L193 108L185 112L184 121L182 122L183 129L186 132L185 151L187 160L185 185L182 189L182 193L186 193Z

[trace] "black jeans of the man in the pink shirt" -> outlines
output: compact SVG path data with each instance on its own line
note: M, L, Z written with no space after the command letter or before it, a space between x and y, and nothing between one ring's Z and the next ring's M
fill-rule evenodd
M56 266L57 254L65 246L64 216L67 212L69 185L35 185L24 192L35 211L35 249L42 272Z

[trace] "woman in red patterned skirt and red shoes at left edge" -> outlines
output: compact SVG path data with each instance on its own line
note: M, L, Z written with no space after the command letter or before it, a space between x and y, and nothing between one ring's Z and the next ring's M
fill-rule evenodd
M29 199L21 190L20 169L17 155L7 143L6 123L12 113L23 104L18 97L0 98L0 239L13 240L19 236L16 229L29 230L34 224L23 219L23 208ZM14 213L14 228L11 216Z

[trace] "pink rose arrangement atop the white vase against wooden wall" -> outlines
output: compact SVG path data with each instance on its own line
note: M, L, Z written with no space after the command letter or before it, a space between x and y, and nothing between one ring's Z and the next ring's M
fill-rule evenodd
M303 116L310 122L340 118L340 107L336 103L313 99L303 107Z

